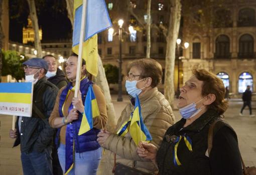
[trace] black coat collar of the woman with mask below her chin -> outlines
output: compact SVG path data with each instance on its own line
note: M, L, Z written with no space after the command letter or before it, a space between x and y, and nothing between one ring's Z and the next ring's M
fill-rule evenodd
M187 127L184 127L182 131L195 131L200 132L213 118L217 118L219 115L213 109L208 109L205 113L203 113L199 118L193 121ZM185 124L186 119L182 118L175 125L175 130L179 131L183 125Z

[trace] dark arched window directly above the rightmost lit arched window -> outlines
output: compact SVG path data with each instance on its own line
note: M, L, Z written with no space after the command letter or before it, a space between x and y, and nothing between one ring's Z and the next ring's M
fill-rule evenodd
M249 34L242 35L239 39L239 58L254 58L253 37Z

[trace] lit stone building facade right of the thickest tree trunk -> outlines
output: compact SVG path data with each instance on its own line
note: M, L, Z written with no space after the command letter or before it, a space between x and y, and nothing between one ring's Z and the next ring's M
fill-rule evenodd
M184 15L183 40L191 47L183 51L183 83L191 76L191 70L198 67L218 75L233 96L239 96L247 85L254 91L256 2L225 1L222 6L213 4L208 11L212 23L200 19L199 14L201 27L194 27L193 20Z

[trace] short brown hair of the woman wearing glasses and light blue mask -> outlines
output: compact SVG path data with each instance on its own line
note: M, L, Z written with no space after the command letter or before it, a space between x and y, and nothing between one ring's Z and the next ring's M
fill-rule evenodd
M130 71L134 66L142 70L141 78L152 78L151 87L154 88L161 83L163 76L162 66L156 60L150 58L135 60L128 66L128 70Z

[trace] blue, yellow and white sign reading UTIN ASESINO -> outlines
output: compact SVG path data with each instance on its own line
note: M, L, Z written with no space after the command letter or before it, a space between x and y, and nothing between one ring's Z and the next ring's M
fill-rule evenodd
M0 114L31 117L32 83L0 83Z

